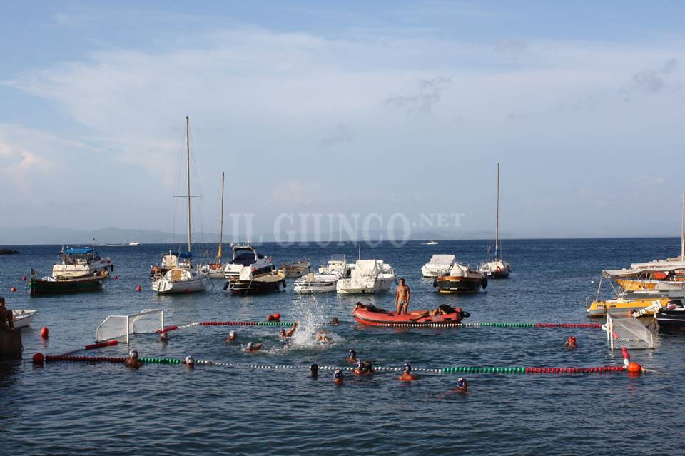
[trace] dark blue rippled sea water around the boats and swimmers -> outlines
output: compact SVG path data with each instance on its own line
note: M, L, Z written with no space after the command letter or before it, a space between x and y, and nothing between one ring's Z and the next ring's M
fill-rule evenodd
M485 241L442 241L426 246L362 248L364 258L395 266L412 288L411 308L446 302L470 311L472 321L586 322L584 298L594 293L602 268L675 255L677 239L511 240L504 258L512 278L491 280L486 293L439 295L422 279L420 266L432 253L456 253L474 265L484 257ZM313 380L308 369L253 370L200 365L122 365L49 363L34 367L36 352L63 353L92 343L107 315L163 308L168 324L198 320L263 320L280 312L285 320L333 316L328 328L336 343L280 348L276 328L238 328L241 342L260 341L263 353L247 355L240 345L223 343L233 327L199 327L171 333L168 345L141 335L131 340L143 356L196 358L263 365L344 365L347 350L376 365L417 368L450 365L610 365L601 330L577 329L411 329L360 328L352 320L357 297L300 297L292 283L283 293L234 297L221 289L192 295L156 297L148 268L168 246L101 248L116 265L118 280L101 293L29 298L21 275L29 268L47 274L58 246L20 246L21 255L0 256L0 290L9 308L38 309L24 331L24 362L0 368L0 454L249 455L324 452L371 454L676 454L685 395L685 337L658 334L656 350L632 356L657 372L628 375L468 375L468 395L448 394L457 375L421 375L405 384L395 374L371 378L348 375L336 386L329 371ZM265 245L274 262L309 258L324 263L331 253L355 259L344 248ZM136 293L136 285L143 286ZM9 288L16 286L17 293ZM392 307L393 294L365 298ZM314 317L313 317L314 315ZM51 336L41 340L47 325ZM579 347L562 347L576 335ZM124 355L125 344L88 355ZM85 353L84 353L85 354ZM676 429L674 429L676 427Z

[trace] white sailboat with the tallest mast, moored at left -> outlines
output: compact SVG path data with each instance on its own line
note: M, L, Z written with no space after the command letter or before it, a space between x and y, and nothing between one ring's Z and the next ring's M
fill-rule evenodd
M184 256L187 258L187 267L178 267L177 262L176 265L172 265L172 267L163 275L159 274L154 276L152 280L152 289L160 295L204 291L211 283L209 275L198 273L198 271L192 268L191 263L193 258L191 254L191 249L193 247L191 236L191 121L188 116L186 116L186 163L186 190L188 191L188 194L186 195L188 200L188 252Z

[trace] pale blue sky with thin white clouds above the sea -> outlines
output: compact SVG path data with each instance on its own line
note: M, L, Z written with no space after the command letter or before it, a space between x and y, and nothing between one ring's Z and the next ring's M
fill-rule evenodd
M679 1L0 4L0 226L679 235ZM284 218L280 217L280 221ZM458 226L457 226L458 225ZM238 227L238 230L241 228ZM305 229L310 229L308 226ZM230 230L230 227L227 228Z

